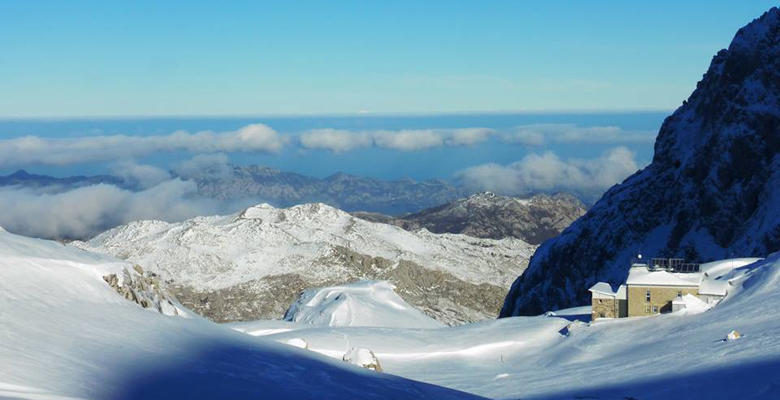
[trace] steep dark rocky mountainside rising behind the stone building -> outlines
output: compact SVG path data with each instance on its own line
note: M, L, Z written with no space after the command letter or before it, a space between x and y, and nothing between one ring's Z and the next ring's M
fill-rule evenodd
M690 98L668 117L653 162L545 242L512 285L501 316L588 302L621 283L630 259L707 261L780 248L780 11L742 28Z

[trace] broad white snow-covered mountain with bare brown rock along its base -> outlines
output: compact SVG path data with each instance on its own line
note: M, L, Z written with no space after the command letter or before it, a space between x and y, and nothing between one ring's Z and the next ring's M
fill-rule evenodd
M281 318L304 289L387 280L447 324L494 317L535 249L514 238L408 232L319 203L133 222L73 245L159 274L182 304L215 321Z

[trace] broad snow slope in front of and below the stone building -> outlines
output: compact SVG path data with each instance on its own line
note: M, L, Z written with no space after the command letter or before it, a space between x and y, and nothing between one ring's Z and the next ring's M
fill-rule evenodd
M736 267L715 308L587 321L589 307L435 330L244 324L340 358L371 349L390 373L502 399L780 398L780 254ZM704 312L702 312L704 311ZM724 341L732 330L743 336Z

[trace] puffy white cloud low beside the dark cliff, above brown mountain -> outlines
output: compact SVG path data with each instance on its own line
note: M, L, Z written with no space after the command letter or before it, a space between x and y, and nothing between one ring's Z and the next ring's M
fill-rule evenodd
M593 201L638 169L634 154L625 147L616 147L594 159L562 160L552 152L529 154L506 166L483 164L457 176L474 190L506 195L562 191Z

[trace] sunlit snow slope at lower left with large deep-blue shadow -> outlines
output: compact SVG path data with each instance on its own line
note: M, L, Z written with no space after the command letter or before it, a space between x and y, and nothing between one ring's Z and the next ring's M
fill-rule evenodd
M141 308L103 280L129 267L0 231L0 398L473 398Z

